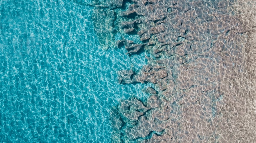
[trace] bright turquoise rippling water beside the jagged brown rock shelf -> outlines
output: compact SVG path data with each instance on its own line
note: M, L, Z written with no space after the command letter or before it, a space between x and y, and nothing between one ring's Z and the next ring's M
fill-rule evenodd
M0 0L1 143L110 143L111 107L148 96L147 85L117 83L136 58L99 47L92 10L71 0Z

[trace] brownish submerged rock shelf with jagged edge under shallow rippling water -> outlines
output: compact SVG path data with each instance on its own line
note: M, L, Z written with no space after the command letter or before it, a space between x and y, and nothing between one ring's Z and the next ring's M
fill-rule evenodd
M113 143L256 141L255 2L100 5L93 18L101 45L150 55L139 72L119 71L119 84L155 84L144 89L146 102L131 97L112 108Z

